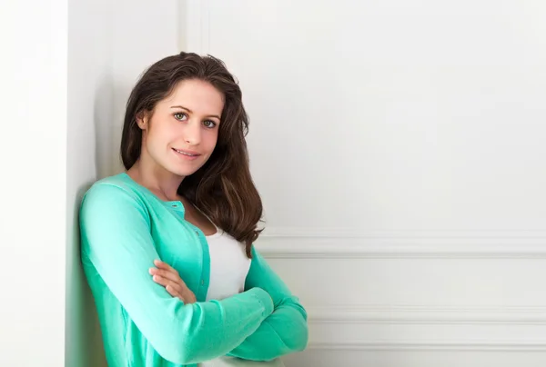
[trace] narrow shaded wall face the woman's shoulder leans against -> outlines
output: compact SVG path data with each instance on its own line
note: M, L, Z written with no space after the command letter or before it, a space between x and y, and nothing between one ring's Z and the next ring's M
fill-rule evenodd
M80 265L77 214L83 193L109 173L113 158L113 28L106 0L69 2L66 366L106 366L94 300Z

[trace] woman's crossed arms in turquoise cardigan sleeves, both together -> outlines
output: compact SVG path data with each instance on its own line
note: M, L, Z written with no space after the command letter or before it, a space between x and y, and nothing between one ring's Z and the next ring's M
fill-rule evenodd
M148 273L159 256L146 210L131 194L95 186L82 203L80 228L83 261L167 361L190 364L226 354L269 361L306 347L307 313L256 249L245 292L183 303Z

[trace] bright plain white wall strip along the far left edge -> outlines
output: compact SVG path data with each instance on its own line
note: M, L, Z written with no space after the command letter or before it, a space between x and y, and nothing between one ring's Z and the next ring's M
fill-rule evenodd
M66 2L0 5L0 365L62 366Z

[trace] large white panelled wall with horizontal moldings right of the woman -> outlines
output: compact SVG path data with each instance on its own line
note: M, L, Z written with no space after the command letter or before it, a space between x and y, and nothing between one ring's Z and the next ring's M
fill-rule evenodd
M546 5L189 1L238 76L289 366L546 363Z

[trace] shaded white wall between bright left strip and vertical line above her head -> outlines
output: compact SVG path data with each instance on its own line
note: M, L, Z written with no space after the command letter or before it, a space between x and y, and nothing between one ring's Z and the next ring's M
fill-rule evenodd
M144 69L177 53L177 2L71 0L68 16L66 366L106 366L80 266L77 211L98 178L120 172L125 104ZM100 26L98 26L100 25ZM60 365L60 364L59 364ZM57 365L58 366L58 365Z

